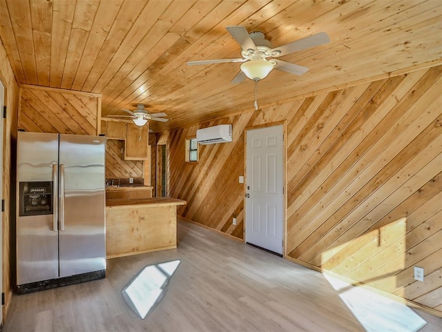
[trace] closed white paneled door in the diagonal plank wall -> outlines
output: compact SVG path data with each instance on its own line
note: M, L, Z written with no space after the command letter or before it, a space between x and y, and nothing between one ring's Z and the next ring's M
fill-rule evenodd
M247 130L246 242L282 255L283 128Z

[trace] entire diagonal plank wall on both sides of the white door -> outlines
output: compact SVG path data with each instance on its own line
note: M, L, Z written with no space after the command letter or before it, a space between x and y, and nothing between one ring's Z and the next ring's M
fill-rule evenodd
M286 257L441 315L441 84L438 66L171 132L169 196L187 201L182 217L241 239L244 128L286 121ZM184 139L217 124L233 124L233 142L185 163Z

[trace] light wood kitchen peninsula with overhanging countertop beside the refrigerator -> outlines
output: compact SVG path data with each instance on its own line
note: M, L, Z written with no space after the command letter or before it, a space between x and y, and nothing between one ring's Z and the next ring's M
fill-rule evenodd
M177 247L177 206L182 199L106 199L107 258Z

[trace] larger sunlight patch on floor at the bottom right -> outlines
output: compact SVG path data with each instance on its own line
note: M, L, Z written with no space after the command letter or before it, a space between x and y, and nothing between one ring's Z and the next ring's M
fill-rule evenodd
M352 286L330 275L324 276L367 332L415 332L427 324L405 304L362 287Z

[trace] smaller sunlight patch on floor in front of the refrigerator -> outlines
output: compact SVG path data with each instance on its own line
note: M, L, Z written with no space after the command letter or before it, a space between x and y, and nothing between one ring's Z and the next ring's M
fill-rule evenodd
M142 320L162 300L169 279L175 273L180 260L148 265L124 287L122 294L128 306Z

